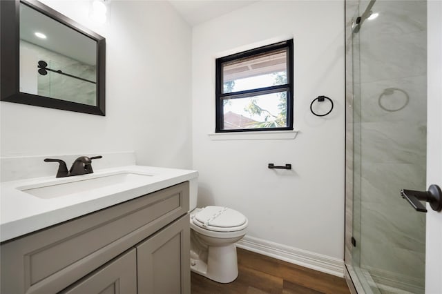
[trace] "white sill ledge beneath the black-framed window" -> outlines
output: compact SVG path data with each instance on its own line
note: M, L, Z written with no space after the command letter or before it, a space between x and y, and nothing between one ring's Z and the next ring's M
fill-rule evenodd
M232 132L208 134L211 140L283 140L295 139L298 130L269 130L260 132Z

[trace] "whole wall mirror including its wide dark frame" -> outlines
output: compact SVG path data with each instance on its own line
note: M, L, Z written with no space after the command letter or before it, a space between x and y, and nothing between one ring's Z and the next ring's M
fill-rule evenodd
M105 115L106 39L35 0L0 1L2 101Z

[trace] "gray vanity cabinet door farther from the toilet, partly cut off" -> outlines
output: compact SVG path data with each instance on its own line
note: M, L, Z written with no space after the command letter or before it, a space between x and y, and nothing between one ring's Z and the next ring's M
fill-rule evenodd
M69 286L63 294L137 294L135 248Z

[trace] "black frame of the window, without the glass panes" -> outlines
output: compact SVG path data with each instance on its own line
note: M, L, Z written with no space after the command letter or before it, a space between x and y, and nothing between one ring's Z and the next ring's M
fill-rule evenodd
M235 133L235 132L256 132L262 130L293 130L294 124L294 52L293 39L273 43L271 45L262 46L259 48L239 52L226 57L220 57L215 60L215 133ZM250 90L242 90L237 92L223 93L223 72L222 64L236 59L243 59L245 57L252 57L253 55L260 55L265 52L273 50L287 49L287 84L268 86L264 88L255 88ZM279 128L240 128L240 129L224 129L224 100L238 99L243 97L250 97L253 94L265 95L273 92L280 92L287 90L287 126Z

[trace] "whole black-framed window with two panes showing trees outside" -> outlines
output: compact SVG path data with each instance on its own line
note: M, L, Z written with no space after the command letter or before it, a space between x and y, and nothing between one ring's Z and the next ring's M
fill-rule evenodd
M293 39L216 59L216 133L293 130Z

